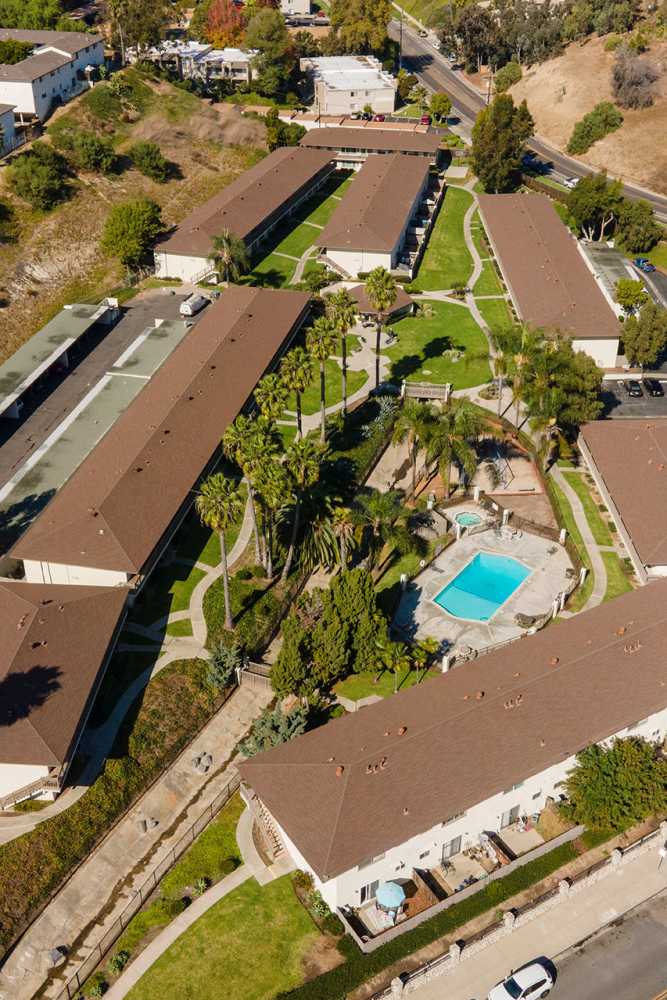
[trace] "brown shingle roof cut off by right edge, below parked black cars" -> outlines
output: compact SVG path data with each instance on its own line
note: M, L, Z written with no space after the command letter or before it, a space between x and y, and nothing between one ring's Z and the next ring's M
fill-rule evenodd
M598 420L581 435L640 559L667 565L667 420Z

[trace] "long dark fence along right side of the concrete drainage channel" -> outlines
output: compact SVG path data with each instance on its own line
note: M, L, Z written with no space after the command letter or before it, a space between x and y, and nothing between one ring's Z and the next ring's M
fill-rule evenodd
M178 861L182 854L192 845L194 840L208 826L208 824L220 812L222 807L229 802L241 784L238 775L231 779L225 787L218 792L213 801L207 806L205 811L195 820L192 826L186 830L181 839L175 844L167 856L162 859L145 882L135 891L135 895L129 901L125 909L113 922L111 927L100 938L88 957L81 963L74 975L67 980L65 986L57 994L56 1000L72 1000L82 988L86 980L93 974L97 966L104 959L107 952L113 947L121 936L132 917L136 916L144 903L157 889L160 881L164 878L170 868Z

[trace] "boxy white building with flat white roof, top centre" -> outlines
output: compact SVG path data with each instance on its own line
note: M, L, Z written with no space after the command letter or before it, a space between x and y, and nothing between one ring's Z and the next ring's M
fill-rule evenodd
M317 56L300 65L312 82L318 114L349 115L367 105L375 114L394 110L396 79L375 56Z

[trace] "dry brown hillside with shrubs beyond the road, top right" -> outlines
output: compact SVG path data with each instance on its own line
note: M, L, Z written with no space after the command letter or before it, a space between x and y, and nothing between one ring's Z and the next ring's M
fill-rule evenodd
M667 42L652 42L646 58L662 66L653 107L624 110L618 132L596 142L578 159L667 194ZM583 45L570 45L557 59L525 70L511 93L515 100L526 98L539 135L565 149L573 124L599 101L612 99L613 62L614 53L604 51L604 39L591 38Z

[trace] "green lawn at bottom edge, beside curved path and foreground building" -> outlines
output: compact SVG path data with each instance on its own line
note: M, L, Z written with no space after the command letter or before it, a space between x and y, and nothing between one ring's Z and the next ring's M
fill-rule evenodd
M129 1000L271 1000L303 981L319 931L289 876L250 879L211 907L128 993Z

